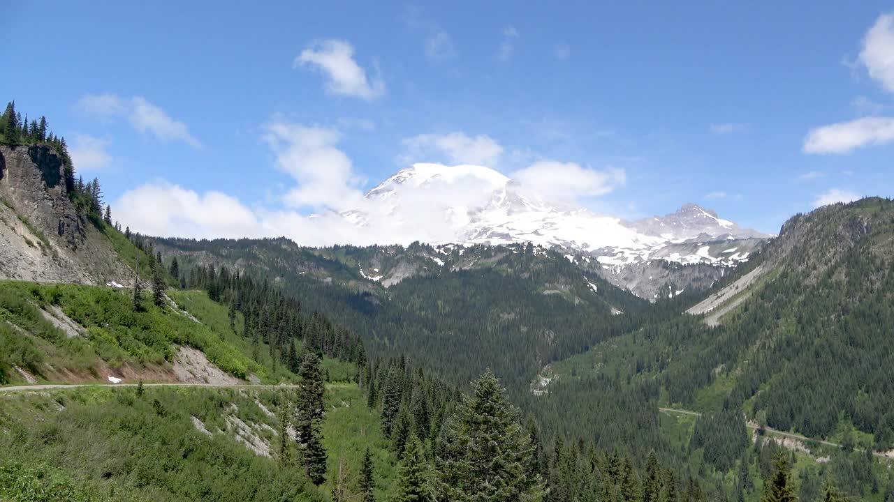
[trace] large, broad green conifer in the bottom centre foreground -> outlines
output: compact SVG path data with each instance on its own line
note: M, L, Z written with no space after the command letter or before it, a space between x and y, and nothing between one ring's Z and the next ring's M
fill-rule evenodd
M542 500L544 482L539 475L527 475L534 450L531 439L500 382L488 370L473 388L438 439L440 497L462 502Z

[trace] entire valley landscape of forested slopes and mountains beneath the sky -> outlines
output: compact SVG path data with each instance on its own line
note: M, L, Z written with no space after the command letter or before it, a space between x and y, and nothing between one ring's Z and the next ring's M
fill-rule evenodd
M468 180L485 205L444 238L308 247L122 230L62 140L0 159L0 498L459 499L492 434L532 500L894 489L890 199L770 236L416 164L338 217Z

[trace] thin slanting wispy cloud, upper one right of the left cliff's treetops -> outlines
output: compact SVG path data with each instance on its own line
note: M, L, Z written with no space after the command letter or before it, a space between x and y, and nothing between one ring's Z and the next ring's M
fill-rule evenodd
M150 133L162 141L180 140L197 148L202 146L185 123L173 120L161 107L149 103L143 96L86 95L80 97L76 107L104 119L126 118L133 129Z

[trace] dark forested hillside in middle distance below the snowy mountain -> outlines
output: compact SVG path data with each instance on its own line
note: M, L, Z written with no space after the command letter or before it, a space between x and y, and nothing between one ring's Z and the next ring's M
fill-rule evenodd
M312 249L285 239L148 242L176 256L181 267L226 267L266 278L301 297L306 310L350 326L372 355L406 354L457 385L491 368L515 397L527 392L545 364L672 311L540 247ZM165 257L167 263L172 259ZM384 280L365 280L358 270L367 275L398 270L406 276L384 288ZM191 276L184 280L195 283Z

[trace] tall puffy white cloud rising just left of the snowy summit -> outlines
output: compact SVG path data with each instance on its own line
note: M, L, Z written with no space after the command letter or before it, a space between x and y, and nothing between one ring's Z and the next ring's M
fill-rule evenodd
M348 155L335 147L341 138L337 130L285 122L266 129L276 167L298 183L283 196L286 205L347 209L357 204L363 180Z

